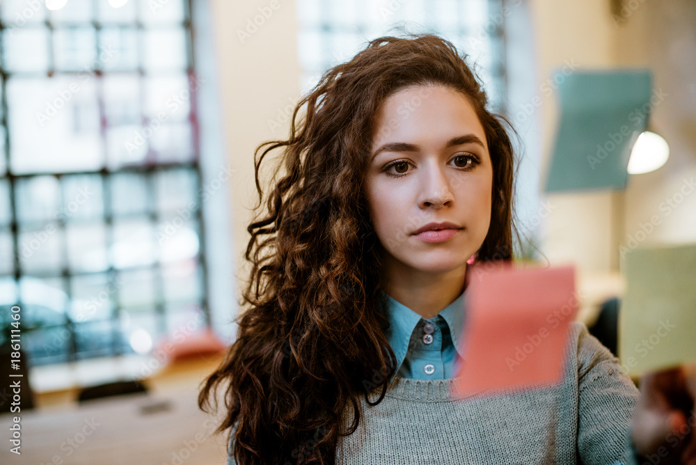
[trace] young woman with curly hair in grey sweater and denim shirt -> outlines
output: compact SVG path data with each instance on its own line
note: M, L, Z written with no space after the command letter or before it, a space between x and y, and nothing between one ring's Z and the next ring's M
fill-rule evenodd
M249 308L199 397L226 384L230 463L633 463L633 443L683 458L690 436L666 438L683 409L639 398L578 322L560 386L450 398L467 268L512 260L514 155L486 104L450 42L383 37L257 149L260 201L271 150L285 173L248 226Z

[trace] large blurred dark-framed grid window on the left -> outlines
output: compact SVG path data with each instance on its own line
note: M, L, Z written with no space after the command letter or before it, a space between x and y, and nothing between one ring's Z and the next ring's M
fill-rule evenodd
M0 2L0 307L31 365L209 324L189 1L63 3Z

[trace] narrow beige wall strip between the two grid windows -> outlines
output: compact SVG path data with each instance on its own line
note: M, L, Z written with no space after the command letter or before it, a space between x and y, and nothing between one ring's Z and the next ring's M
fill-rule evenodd
M272 131L269 120L277 121L278 111L285 111L290 100L299 98L301 70L295 40L295 3L289 0L211 0L211 3L224 134L230 165L237 168L230 182L230 205L232 253L241 269L250 237L246 226L253 219L253 207L258 202L253 152L263 141L285 135L287 126ZM271 3L278 8L271 8ZM247 21L253 22L255 16L262 14L258 8L268 17L263 17L251 37L240 39L238 31L246 32ZM239 271L238 277L246 280L246 271Z

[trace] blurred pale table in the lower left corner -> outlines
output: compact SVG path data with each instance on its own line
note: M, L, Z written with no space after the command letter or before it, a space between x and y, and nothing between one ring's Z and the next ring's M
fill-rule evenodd
M0 464L224 465L226 439L214 434L216 417L198 409L197 395L134 394L20 413L22 455L8 441L16 413L2 414Z

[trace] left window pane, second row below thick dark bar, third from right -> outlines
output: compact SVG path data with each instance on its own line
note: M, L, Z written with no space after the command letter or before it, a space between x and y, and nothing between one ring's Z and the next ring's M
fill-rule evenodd
M106 261L104 223L68 223L65 234L68 239L68 264L72 273L102 271L109 267Z

